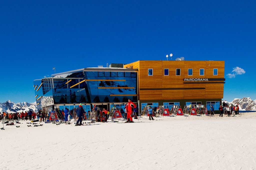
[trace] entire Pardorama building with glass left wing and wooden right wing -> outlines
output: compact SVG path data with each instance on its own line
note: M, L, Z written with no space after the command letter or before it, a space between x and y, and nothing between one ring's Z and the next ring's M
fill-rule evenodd
M112 67L83 68L34 80L39 108L70 110L80 103L86 111L92 104L124 112L131 98L139 106L184 107L190 104L214 105L223 98L224 61L144 61L111 64ZM114 68L123 66L124 68Z

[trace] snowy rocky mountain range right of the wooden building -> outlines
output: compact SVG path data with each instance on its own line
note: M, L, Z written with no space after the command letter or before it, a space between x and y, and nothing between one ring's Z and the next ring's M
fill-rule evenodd
M226 100L222 100L222 103L223 101L225 103L228 103L228 105L237 105L239 104L239 110L243 110L243 111L256 111L256 100L252 100L251 98L246 98L246 97L243 97L242 99L234 99L232 100L232 102L228 102Z

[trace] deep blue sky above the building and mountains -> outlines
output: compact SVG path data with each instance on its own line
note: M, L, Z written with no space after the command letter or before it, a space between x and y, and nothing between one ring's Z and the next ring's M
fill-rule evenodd
M165 60L225 60L224 99L256 99L255 1L0 1L0 102L34 102L56 72ZM233 68L245 74L228 78Z

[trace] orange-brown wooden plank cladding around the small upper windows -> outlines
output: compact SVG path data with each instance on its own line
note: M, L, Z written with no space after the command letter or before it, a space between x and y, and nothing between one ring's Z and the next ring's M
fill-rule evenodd
M124 68L138 69L138 100L222 99L224 87L224 61L152 61L140 60L125 64ZM176 69L180 76L176 76ZM153 76L148 76L153 69ZM164 75L169 69L169 75ZM188 75L193 69L193 75ZM204 69L200 76L199 70ZM218 75L213 74L218 69ZM184 81L184 79L208 81Z

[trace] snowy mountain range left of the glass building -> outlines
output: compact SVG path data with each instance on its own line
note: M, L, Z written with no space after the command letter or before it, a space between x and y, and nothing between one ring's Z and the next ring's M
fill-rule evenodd
M6 113L17 113L17 112L25 112L33 110L34 112L37 112L37 105L36 102L34 103L14 103L10 100L7 100L4 103L0 103L0 113L6 112Z

